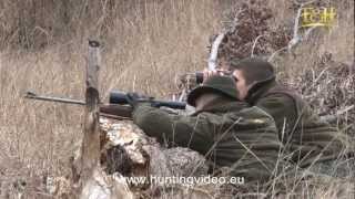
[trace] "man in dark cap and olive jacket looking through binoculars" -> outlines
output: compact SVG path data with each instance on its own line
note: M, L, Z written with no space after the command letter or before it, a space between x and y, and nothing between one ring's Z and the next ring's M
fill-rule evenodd
M226 70L236 81L237 98L274 118L288 160L308 167L332 163L344 153L349 140L345 134L322 122L296 92L276 83L271 63L257 57L234 59Z

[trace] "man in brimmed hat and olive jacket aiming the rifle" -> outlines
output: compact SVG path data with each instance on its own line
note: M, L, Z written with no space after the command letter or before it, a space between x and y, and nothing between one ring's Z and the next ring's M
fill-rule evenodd
M133 122L160 143L196 150L213 167L229 168L229 175L245 181L267 181L282 147L275 123L237 96L233 78L215 75L189 94L187 103L196 108L189 116L152 107L136 94L128 94L128 101Z

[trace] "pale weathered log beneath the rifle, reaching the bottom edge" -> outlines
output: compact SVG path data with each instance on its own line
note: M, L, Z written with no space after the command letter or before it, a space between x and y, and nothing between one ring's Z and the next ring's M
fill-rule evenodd
M164 148L154 138L148 137L131 121L100 117L101 166L97 167L81 192L81 198L140 198L168 195L169 185L128 184L129 177L205 176L205 158L187 148ZM175 187L172 195L183 197L189 187ZM166 192L168 191L168 192ZM178 192L179 192L178 191ZM190 192L191 193L191 192ZM205 195L197 191L196 195ZM179 197L179 198L181 198Z

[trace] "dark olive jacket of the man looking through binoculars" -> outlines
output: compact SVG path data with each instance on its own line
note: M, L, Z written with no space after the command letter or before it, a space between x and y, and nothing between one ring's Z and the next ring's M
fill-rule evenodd
M344 134L322 122L300 95L275 81L258 87L247 102L273 116L280 139L301 167L335 159L347 145Z

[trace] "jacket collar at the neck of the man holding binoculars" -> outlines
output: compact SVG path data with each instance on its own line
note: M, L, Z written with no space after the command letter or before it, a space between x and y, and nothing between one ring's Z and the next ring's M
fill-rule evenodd
M272 87L276 85L277 83L275 81L275 76L272 76L271 78L267 78L262 82L256 82L251 86L250 91L247 92L245 101L248 104L254 105L260 97L265 95Z

